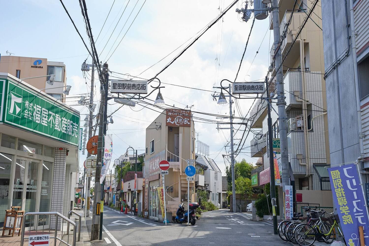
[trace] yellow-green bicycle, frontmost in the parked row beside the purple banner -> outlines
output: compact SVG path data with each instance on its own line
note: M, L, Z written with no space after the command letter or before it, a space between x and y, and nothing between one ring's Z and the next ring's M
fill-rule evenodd
M334 211L335 210L337 210L337 209L334 209ZM334 211L332 213L327 213L327 212L324 211L324 214L333 214ZM314 225L301 224L297 228L295 228L293 234L294 234L294 239L296 240L298 245L300 245L300 246L313 245L313 243L315 242L317 237L321 237L324 240L324 242L326 242L326 243L332 242L335 238L335 235L331 236L332 232L334 230L337 230L338 235L345 242L343 233L342 233L341 229L338 226L339 217L338 217L337 214L334 214L334 215L327 218L327 220L332 223L332 225L330 226L329 231L327 233L322 233L322 232L327 231L328 228L326 228L326 226L324 226L325 224L321 220L321 217L319 217L318 219L321 221L321 223L315 223Z

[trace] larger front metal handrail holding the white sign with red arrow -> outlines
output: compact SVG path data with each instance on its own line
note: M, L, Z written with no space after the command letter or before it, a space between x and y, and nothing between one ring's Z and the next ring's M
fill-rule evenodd
M23 243L24 243L24 231L25 231L24 226L25 226L25 219L26 219L27 215L55 215L55 236L50 237L50 238L54 238L54 246L56 246L56 240L59 240L60 242L65 243L68 246L76 246L76 223L71 221L70 219L66 218L64 215L59 214L58 212L27 212L27 213L25 213L23 215L23 222L22 222L23 230L22 230L22 235L21 235L21 246L23 246ZM58 238L58 218L59 217L61 217L63 220L67 221L68 223L72 224L73 227L74 227L72 245L70 245L68 242L65 242L63 239ZM51 221L51 218L50 218L50 221ZM63 230L62 230L62 233L63 233ZM69 236L68 236L68 239L69 239Z

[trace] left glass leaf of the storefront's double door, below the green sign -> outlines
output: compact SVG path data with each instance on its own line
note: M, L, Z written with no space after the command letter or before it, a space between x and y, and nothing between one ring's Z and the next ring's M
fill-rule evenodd
M12 206L22 206L22 195L25 181L27 160L17 159L15 162L14 190ZM28 212L28 211L27 211Z

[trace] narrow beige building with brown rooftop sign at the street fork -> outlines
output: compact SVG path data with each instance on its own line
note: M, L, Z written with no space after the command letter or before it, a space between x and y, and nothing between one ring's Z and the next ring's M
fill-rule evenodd
M190 181L190 195L184 168L187 160L195 159L195 130L191 111L180 109L164 110L146 128L146 155L143 173L145 177L144 209L149 217L163 221L159 201L159 187L163 187L159 162L170 163L169 174L165 175L167 219L175 216L181 202L195 201L195 182ZM194 166L194 162L191 163Z

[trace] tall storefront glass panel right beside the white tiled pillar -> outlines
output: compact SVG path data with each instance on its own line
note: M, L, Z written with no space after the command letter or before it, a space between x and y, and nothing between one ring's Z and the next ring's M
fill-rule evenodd
M50 212L51 191L54 164L52 162L42 163L40 212ZM38 225L48 225L49 216L38 216Z

